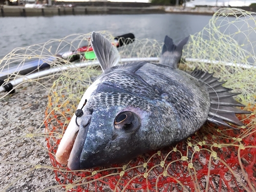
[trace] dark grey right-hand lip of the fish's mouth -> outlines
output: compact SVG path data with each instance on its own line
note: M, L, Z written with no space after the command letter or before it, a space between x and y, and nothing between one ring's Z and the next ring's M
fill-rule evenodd
M90 123L91 123L91 116L86 126L83 126L82 123L80 124L78 134L76 136L74 145L72 147L72 150L68 159L68 167L70 170L78 170L81 167L80 157L82 154L84 142L86 141L86 138L87 138L87 132L89 130Z

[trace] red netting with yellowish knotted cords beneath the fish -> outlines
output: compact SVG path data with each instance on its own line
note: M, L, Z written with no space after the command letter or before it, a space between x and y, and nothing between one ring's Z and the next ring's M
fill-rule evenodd
M54 104L49 97L45 125L56 180L69 191L252 191L256 188L255 114L240 115L247 126L238 130L205 124L193 136L172 147L124 164L71 172L54 156L61 139L56 133L61 135L65 131L74 111L72 102L68 99L62 102L64 98L60 96ZM249 105L247 110L255 109L256 106Z

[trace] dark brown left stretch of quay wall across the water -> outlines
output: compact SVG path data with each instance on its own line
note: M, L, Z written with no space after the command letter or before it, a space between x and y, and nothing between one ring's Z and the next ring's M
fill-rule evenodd
M105 2L102 2L105 3ZM117 3L117 2L115 2ZM130 6L130 7L127 7ZM141 5L140 5L141 6ZM54 15L92 15L92 14L150 14L150 13L165 13L162 6L141 6L136 7L133 4L117 6L104 4L89 5L89 6L60 6L42 8L26 8L24 6L2 6L0 7L0 17L7 16L54 16Z

